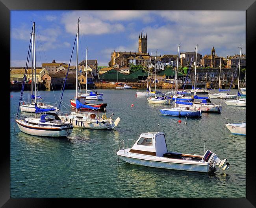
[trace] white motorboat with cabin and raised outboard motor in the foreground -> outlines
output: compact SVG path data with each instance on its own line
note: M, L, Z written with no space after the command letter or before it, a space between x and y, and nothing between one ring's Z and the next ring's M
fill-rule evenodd
M227 159L221 161L210 150L204 155L168 151L163 132L142 133L132 148L128 148L128 142L127 148L124 148L124 140L120 144L117 155L130 164L206 173L214 172L216 166L223 170L230 166Z

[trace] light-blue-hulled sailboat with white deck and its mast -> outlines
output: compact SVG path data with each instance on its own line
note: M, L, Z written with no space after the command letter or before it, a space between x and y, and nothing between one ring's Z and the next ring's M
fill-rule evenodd
M178 56L177 56L177 65L176 65L176 72L175 72L175 107L169 109L159 109L163 115L170 115L170 116L184 116L184 117L202 117L201 109L195 109L191 106L186 107L176 107L177 102L177 80L178 80L178 60L179 60L179 52L180 52L180 44L178 45Z

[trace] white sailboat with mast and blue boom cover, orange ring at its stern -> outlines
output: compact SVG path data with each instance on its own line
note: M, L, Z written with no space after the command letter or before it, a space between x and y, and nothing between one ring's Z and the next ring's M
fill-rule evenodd
M80 108L97 109L95 107L87 106L79 102L78 100L78 43L79 43L79 22L77 26L77 45L76 45L76 112L71 112L70 115L61 115L60 118L63 121L70 122L76 128L89 128L89 129L114 129L120 121L120 118L114 121L112 119L113 114L107 118L106 113L100 115L97 113L78 113ZM86 98L87 99L87 98Z

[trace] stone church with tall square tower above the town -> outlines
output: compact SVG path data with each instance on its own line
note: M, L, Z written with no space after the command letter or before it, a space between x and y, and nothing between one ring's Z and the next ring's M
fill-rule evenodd
M149 66L150 55L147 51L147 33L146 35L143 33L139 34L139 42L138 42L138 52L121 52L121 51L113 51L111 53L111 61L109 62L109 66L113 67L129 67L130 65L141 65L141 66ZM161 60L161 57L157 57L157 61ZM154 64L155 57L152 55L151 63Z

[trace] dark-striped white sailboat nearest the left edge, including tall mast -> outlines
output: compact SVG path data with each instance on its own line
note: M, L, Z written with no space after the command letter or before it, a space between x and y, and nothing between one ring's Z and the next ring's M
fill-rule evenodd
M34 66L34 71L36 73L35 67L35 22L33 22L33 56L34 62L32 63ZM24 80L25 81L25 80ZM23 85L24 85L23 81ZM36 83L36 77L34 77L34 82ZM23 89L23 88L22 88ZM36 89L36 88L35 88ZM22 99L22 93L20 96L20 100ZM20 131L36 136L44 136L44 137L66 137L69 136L73 130L72 124L69 122L62 121L57 114L50 113L55 111L54 108L38 108L36 102L36 90L35 90L35 118L23 118L24 114L19 115L19 110L16 115L15 122L17 123ZM38 113L45 113L42 114L39 118L37 118Z

